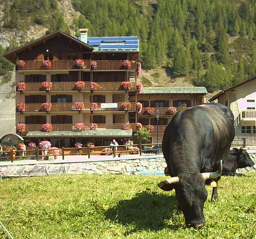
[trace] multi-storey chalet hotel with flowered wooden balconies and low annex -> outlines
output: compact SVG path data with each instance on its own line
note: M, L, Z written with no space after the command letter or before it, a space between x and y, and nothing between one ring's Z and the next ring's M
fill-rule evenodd
M143 87L138 37L80 33L58 30L3 55L16 65L16 131L26 144L124 145L141 127L161 142L175 108L205 102L204 87Z

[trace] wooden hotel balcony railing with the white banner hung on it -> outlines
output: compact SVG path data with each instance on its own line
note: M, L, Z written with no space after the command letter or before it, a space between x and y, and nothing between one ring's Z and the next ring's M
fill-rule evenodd
M98 108L94 110L94 112L116 112L116 111L125 111L125 109L122 107L122 102L117 102L117 108L105 108L105 105L102 105L104 103L97 103ZM111 103L112 104L112 103ZM52 108L49 112L90 112L91 103L87 102L84 103L84 108L82 110L75 108L75 103L52 103ZM136 103L131 103L131 108L128 109L128 112L134 112L136 111ZM26 113L35 113L35 112L47 112L46 110L42 109L42 103L26 103L26 111L23 111L24 114Z

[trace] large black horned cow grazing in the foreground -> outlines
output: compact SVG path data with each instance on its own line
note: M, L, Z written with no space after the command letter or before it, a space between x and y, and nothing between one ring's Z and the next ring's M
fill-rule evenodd
M187 227L199 229L205 224L205 184L213 187L212 200L218 199L222 159L228 155L234 136L233 113L219 103L178 111L167 125L162 149L172 177L158 186L165 191L175 189Z

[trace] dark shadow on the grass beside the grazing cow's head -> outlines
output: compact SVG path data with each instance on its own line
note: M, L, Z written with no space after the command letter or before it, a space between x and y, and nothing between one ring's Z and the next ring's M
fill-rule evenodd
M126 233L137 230L177 229L183 225L170 225L168 221L177 220L177 200L174 195L167 196L149 191L137 193L130 200L122 200L105 212L105 216L125 226L131 226Z

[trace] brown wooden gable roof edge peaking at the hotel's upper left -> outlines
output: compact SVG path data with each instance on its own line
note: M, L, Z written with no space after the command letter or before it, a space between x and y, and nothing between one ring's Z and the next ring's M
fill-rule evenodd
M27 43L23 46L20 46L18 48L15 48L14 50L12 51L9 51L9 52L6 52L5 54L3 54L3 57L5 57L6 59L8 59L9 61L13 62L13 54L17 54L19 52L22 52L22 51L25 51L26 49L29 49L33 46L36 46L38 44L41 44L41 43L44 43L45 41L49 40L49 39L52 39L54 37L58 37L58 36L62 36L62 37L66 37L67 39L75 42L75 43L78 43L80 44L81 46L87 48L88 50L93 50L93 47L84 43L84 42L81 42L80 40L78 40L77 38L75 37L71 37L69 34L65 33L64 31L61 31L61 30L57 30L55 32L52 32L44 37L41 37L41 38L38 38L37 40L34 40L30 43Z

